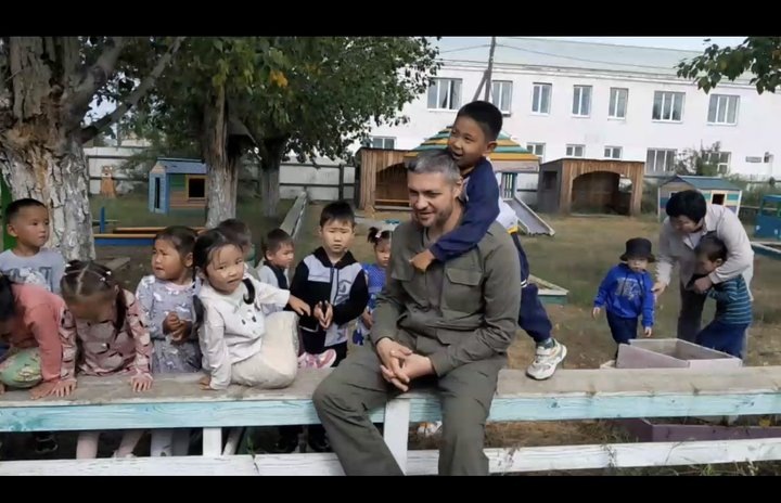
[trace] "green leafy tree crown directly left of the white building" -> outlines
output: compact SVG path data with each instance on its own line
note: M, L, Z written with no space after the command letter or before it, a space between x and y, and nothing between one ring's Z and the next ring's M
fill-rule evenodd
M150 60L146 51L139 54ZM156 131L171 147L197 143L206 100L225 87L231 119L247 128L261 156L276 143L274 156L341 157L372 122L405 120L397 114L425 91L436 54L422 37L189 38L132 128L139 137ZM124 68L125 78L143 73L142 57Z

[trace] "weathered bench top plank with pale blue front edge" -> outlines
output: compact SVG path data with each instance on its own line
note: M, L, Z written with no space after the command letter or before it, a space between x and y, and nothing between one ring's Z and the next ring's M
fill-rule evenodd
M328 371L303 371L286 389L231 386L203 391L197 375L161 376L149 392L129 379L85 378L65 399L31 401L24 391L0 397L0 430L81 430L162 427L234 427L316 424L310 397ZM781 367L706 370L562 370L551 379L523 371L501 373L491 421L665 417L781 413ZM410 421L439 418L436 397L405 395ZM372 421L382 422L377 410Z

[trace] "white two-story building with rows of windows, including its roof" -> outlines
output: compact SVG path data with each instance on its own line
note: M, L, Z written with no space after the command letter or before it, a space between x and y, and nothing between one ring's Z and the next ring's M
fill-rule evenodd
M451 125L458 108L475 98L489 44L489 37L443 38L437 78L402 111L410 121L375 128L371 145L413 149ZM646 177L661 177L679 153L719 143L714 160L722 172L778 179L781 95L758 94L746 79L706 94L676 76L678 62L699 54L498 37L490 101L504 113L504 131L542 162L641 160Z

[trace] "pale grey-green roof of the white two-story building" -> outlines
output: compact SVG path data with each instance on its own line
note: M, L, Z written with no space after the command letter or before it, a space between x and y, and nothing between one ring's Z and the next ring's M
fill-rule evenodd
M486 66L490 37L443 37L439 59L450 64ZM704 48L703 48L704 49ZM575 42L524 37L497 37L494 64L501 67L569 68L615 74L676 77L676 65L702 52L678 49ZM741 77L739 83L747 83Z

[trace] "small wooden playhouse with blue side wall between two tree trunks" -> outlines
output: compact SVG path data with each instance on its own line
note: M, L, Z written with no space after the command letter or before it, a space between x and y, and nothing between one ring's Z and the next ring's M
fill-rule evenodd
M149 176L149 210L206 208L206 164L195 159L158 158Z

